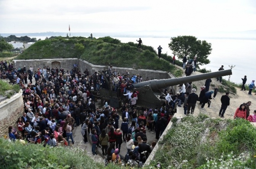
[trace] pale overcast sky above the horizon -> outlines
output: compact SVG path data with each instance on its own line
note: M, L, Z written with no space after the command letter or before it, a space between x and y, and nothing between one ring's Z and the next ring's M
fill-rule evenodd
M256 30L256 0L0 0L0 33Z

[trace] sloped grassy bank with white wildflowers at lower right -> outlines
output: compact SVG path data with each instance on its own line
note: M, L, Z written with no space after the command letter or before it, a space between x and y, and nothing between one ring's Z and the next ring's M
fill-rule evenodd
M204 114L172 119L150 166L162 169L256 168L256 128L244 119ZM148 166L147 168L150 168Z

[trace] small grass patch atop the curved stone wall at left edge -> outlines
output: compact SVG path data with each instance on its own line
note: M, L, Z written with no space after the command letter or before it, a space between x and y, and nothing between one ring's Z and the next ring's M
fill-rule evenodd
M0 79L0 95L7 96L10 98L13 94L18 93L20 91L19 85L11 85L8 80Z

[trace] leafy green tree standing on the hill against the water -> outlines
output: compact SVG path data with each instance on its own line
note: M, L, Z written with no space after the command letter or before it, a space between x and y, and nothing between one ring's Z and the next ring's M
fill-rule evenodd
M178 36L171 38L169 48L179 59L182 59L184 56L193 59L196 56L197 65L210 63L207 57L211 54L212 48L211 44L205 40L197 40L193 36Z

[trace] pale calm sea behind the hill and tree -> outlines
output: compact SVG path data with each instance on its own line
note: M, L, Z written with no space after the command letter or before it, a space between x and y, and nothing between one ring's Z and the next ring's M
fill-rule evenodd
M31 37L32 38L32 37ZM46 37L33 37L45 39ZM100 37L95 37L100 38ZM122 43L134 42L139 40L136 38L124 38L113 37L121 40ZM218 71L223 65L224 69L232 68L232 75L230 81L235 83L242 83L244 75L247 76L247 84L252 80L256 80L256 40L249 39L234 39L234 38L198 38L200 40L206 40L206 42L212 44L211 54L208 56L210 63L200 66L211 70L212 72ZM172 51L168 48L168 44L171 42L170 38L141 38L142 44L152 46L155 50L161 45L162 53L167 53L173 56ZM228 80L229 76L224 76L224 79Z

